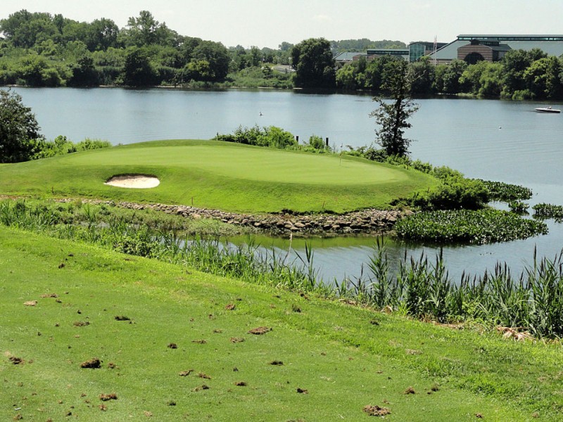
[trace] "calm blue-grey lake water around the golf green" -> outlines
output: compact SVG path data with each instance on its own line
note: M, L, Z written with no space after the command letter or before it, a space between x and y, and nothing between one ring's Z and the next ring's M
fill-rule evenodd
M312 134L331 145L364 146L374 139L369 96L312 95L286 91L177 91L169 89L15 89L30 106L49 139L63 134L117 143L153 139L209 139L243 126L275 125L303 141ZM545 104L467 99L418 101L407 136L412 157L448 165L468 177L522 184L533 189L531 205L563 205L563 115L534 113ZM560 108L561 106L559 106ZM262 116L260 116L262 113ZM498 261L519 271L538 254L553 257L563 248L563 226L550 222L550 234L526 241L448 247L444 256L454 279L465 269L482 274ZM262 245L286 249L287 241L260 238ZM315 241L315 263L325 279L360 274L373 239ZM302 250L303 243L293 241ZM432 245L391 243L389 253L404 250L433 256Z

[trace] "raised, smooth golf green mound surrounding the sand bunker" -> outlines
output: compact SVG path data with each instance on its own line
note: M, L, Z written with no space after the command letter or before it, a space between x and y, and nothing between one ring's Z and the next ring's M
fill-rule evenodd
M115 174L153 174L160 186L125 189ZM238 212L386 208L434 186L426 174L338 155L217 141L154 141L0 167L0 192L181 203Z

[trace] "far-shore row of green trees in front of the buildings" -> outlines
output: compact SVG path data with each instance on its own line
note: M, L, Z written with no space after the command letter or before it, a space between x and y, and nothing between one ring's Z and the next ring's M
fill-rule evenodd
M380 56L347 63L336 71L335 87L382 91L402 59ZM410 63L414 96L471 94L487 98L562 99L563 61L540 49L512 50L498 62L464 60L434 65L429 58Z

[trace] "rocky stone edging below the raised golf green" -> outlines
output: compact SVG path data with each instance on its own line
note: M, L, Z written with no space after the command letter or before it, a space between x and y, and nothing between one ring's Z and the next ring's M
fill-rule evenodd
M129 202L115 203L113 201L92 201L96 203L107 203L118 207L132 210L152 209L167 214L181 215L193 219L216 219L225 224L241 226L262 231L277 236L307 236L341 234L384 234L393 229L396 221L405 215L412 214L411 211L398 210L361 210L349 212L343 215L293 215L265 214L251 215L235 212L224 212L220 210L208 210L204 208L190 207L187 205L165 205L165 204L139 204Z

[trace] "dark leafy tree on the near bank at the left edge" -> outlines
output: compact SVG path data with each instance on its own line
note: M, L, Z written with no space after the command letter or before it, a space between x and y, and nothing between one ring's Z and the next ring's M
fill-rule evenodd
M22 97L0 90L0 162L20 162L33 154L32 140L44 139L31 108Z

